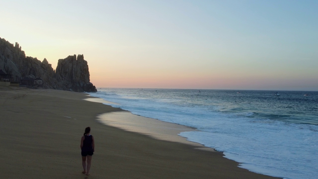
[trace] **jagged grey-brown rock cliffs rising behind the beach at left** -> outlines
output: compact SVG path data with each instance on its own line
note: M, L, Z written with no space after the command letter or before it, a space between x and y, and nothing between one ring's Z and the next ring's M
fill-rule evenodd
M41 78L43 87L76 92L96 92L95 86L89 82L87 61L83 55L68 56L59 59L56 70L44 59L26 57L19 44L15 46L0 38L0 69L11 74L15 82L23 77Z

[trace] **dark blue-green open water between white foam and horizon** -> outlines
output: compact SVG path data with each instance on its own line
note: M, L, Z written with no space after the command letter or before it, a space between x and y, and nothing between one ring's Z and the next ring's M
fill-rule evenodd
M205 107L224 113L246 112L249 118L318 125L318 91L103 89L135 99L178 106ZM278 92L280 96L274 96ZM304 96L308 94L309 96Z

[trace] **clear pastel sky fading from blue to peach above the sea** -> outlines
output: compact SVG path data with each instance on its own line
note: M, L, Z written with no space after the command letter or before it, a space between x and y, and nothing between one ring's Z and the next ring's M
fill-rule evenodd
M96 87L318 90L318 1L0 1L27 56L84 54Z

